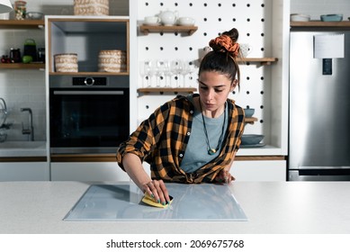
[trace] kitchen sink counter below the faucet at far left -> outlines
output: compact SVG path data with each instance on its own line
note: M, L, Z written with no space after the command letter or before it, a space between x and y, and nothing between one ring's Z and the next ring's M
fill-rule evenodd
M45 157L46 141L5 141L0 143L0 157Z

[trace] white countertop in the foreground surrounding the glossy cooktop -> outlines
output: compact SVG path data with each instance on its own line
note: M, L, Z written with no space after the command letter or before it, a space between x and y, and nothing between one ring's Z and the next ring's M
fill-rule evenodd
M1 182L0 233L350 233L350 182L233 183L248 221L62 220L89 185Z

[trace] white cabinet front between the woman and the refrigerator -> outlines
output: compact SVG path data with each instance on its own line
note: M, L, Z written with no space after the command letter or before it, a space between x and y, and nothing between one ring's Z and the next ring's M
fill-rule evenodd
M235 161L231 167L231 174L236 181L286 181L286 161Z

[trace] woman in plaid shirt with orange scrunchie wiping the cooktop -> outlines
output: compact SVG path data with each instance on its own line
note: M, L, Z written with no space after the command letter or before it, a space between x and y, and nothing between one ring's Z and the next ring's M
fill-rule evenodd
M164 182L230 183L244 129L244 110L228 99L239 87L238 31L210 41L199 68L199 94L178 95L121 143L117 161L156 202L170 202ZM142 166L150 164L151 178Z

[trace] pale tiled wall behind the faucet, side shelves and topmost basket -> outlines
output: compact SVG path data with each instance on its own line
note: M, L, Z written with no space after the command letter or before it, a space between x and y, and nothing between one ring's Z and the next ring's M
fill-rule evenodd
M134 0L130 0L134 1ZM149 0L152 2L153 0ZM226 0L225 0L226 1ZM235 2L232 0L232 2ZM311 19L319 19L320 14L344 14L350 16L348 0L291 0L291 13L310 14ZM73 14L73 0L31 0L27 2L27 11L39 11L44 14ZM128 15L127 0L110 0L111 15ZM37 48L44 47L43 31L0 30L0 56L9 53L11 47L22 50L24 40L34 39ZM35 139L46 139L45 130L45 77L39 70L0 71L0 97L4 97L10 112L9 122L13 128L8 139L25 140L22 135L22 122L28 126L28 114L20 112L22 107L30 107L33 112Z

